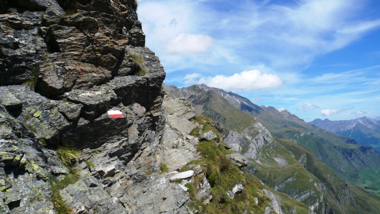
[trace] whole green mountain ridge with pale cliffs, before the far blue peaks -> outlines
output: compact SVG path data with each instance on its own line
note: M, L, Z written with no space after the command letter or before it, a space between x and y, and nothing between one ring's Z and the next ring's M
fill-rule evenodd
M224 141L251 160L254 175L266 185L315 213L379 211L371 208L380 207L379 198L367 193L380 195L380 153L371 146L233 92L204 84L162 86L167 94L186 98L197 114L219 122Z

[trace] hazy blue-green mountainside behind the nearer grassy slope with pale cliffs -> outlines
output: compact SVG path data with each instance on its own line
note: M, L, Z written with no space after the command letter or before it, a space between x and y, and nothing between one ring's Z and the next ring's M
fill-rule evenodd
M359 185L372 194L380 195L380 179L376 179L375 177L377 171L380 170L380 165L378 165L380 153L376 152L371 146L352 144L354 140L349 137L338 135L309 124L286 110L279 112L272 106L257 106L250 102L249 99L232 92L207 87L206 85L192 85L187 88L181 88L180 91L186 91L185 93L182 92L182 95L185 97L192 94L193 97L189 97L190 100L194 100L194 103L196 102L197 105L203 106L206 103L205 101L201 101L204 95L198 98L194 97L196 94L200 94L201 89L216 91L215 95L231 102L230 104L236 109L252 115L276 137L296 140L312 151L319 160L336 171L342 179ZM194 93L193 91L197 92ZM228 98L224 99L221 96L222 93L223 97ZM220 106L216 98L211 102L215 106L211 107L210 104L206 104L204 105L206 109L203 110L210 117L214 114L212 111L224 107ZM198 113L203 113L201 111L198 110ZM235 112L229 110L229 108L226 108L225 111L233 112L233 115ZM228 117L228 113L223 117ZM229 117L237 120L235 116ZM245 117L242 116L242 118ZM220 121L223 122L222 120ZM233 130L233 124L232 126L229 124L229 127Z

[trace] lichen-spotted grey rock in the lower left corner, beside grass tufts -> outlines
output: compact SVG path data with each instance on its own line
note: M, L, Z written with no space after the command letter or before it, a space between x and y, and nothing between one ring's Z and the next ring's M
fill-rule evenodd
M1 104L0 127L0 212L54 213L47 177L66 167Z

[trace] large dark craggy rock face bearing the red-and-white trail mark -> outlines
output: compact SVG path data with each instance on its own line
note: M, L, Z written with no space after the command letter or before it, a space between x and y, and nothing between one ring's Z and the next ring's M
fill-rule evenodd
M54 213L48 183L72 170L57 160L57 146L78 148L72 165L78 179L58 192L73 213L191 213L186 192L166 173L151 171L162 151L173 149L163 135L188 140L170 155L191 155L172 168L197 158L197 139L188 135L195 114L167 115L165 123L165 72L144 46L136 6L135 0L1 1L1 213ZM123 116L111 118L108 110ZM178 130L187 138L167 130L185 121L191 125Z

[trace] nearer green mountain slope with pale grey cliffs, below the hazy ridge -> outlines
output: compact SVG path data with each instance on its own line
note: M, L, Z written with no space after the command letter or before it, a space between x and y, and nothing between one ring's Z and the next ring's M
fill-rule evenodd
M326 139L319 139L321 142L319 142L319 144L316 143L318 146L313 146L310 141L315 141L314 138L321 138L321 136L312 133L310 130L307 130L309 132L307 133L305 128L301 125L303 120L300 120L298 117L288 114L285 115L288 118L286 120L286 117L277 110L274 109L274 111L271 107L269 109L260 107L261 110L258 111L263 111L264 113L262 113L262 115L266 115L267 117L269 117L270 111L274 113L278 112L277 118L272 119L270 123L273 124L273 126L276 125L275 127L283 129L277 129L278 133L282 133L282 137L297 138L296 134L298 134L297 140L273 138L269 132L265 132L266 128L262 125L258 125L260 124L258 121L262 119L242 112L232 106L227 99L221 95L216 95L216 93L211 90L206 91L196 85L182 88L180 91L175 87L168 86L165 86L164 89L169 94L175 93L176 96L186 97L198 114L203 114L220 122L224 127L224 134L229 134L228 130L241 133L242 137L238 145L240 148L237 150L244 153L244 155L253 157L251 160L252 167L255 169L254 174L268 186L291 195L294 199L315 209L314 211L316 213L328 213L329 211L333 213L360 213L353 212L358 210L367 210L361 213L371 213L372 211L380 211L380 209L371 208L371 206L378 207L380 205L378 197L372 196L356 186L354 189L357 190L357 192L351 191L344 180L339 178L334 171L319 161L319 159L323 159L320 158L320 156L327 156L325 153L320 152L317 157L305 149L301 145L303 143L298 144L297 141L300 139L305 145L310 144L310 147L316 147L316 150L319 151L321 148L318 147L327 141ZM275 122L275 119L277 119L277 122ZM283 125L283 122L287 124ZM290 128L286 129L286 125L290 126ZM306 125L315 127L307 123ZM315 129L317 128L315 127ZM325 133L321 131L320 134ZM346 137L336 134L327 136L331 139L335 138L343 141L343 143L339 141L335 144L327 143L336 150L340 149L340 146L344 149L347 149L348 146L348 148L351 149L353 145L344 143L347 139ZM307 138L309 139L308 142L306 140ZM256 143L252 143L254 141ZM254 144L254 146L252 146L252 144ZM299 150L303 152L299 155L301 157L297 157L290 149L286 148L290 145L294 145L298 153L301 153ZM352 147L352 149L355 150L356 148ZM302 158L304 160L302 160ZM331 159L329 156L327 156L327 158ZM339 161L344 164L351 164L350 162L347 163L344 158L336 159L336 163L334 164L340 164ZM349 171L349 173L351 172ZM371 201L370 205L364 202L363 198ZM368 198L371 199L369 200Z

